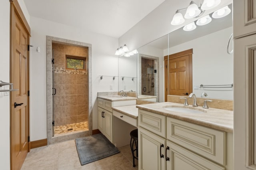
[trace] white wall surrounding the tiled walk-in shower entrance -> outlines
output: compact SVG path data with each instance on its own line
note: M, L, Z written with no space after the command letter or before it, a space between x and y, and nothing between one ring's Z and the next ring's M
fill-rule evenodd
M66 26L40 18L30 17L31 39L34 45L30 53L30 134L31 140L46 138L46 36L53 36L78 42L92 44L92 128L98 128L97 121L97 92L118 91L118 81L112 77L100 75L117 75L118 57L114 49L118 39L80 28ZM40 53L36 52L40 47ZM110 90L112 85L112 90Z

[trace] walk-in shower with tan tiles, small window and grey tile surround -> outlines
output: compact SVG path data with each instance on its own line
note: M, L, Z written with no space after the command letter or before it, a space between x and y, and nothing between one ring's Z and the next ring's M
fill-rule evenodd
M48 144L88 136L92 134L89 83L91 45L47 38L60 40L52 40L51 44L47 41L50 44L47 45L47 51L51 51L52 69L51 74L47 72L48 99L51 99L47 103ZM47 58L49 60L49 53ZM49 63L47 61L48 68Z

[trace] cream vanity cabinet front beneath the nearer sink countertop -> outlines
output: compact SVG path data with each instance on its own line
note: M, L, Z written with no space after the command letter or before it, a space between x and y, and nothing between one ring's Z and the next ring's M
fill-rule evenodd
M226 136L220 130L139 109L138 169L231 170L226 152L232 146L226 147ZM232 159L233 154L229 156Z

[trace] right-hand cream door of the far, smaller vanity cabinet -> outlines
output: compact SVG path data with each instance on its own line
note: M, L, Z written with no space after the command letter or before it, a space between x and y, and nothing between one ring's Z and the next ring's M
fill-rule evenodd
M104 135L113 143L113 115L109 111L104 111Z

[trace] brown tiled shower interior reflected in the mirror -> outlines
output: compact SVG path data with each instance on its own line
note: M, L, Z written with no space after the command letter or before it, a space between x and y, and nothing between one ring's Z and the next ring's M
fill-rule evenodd
M153 65L152 69L152 75L151 75L151 69L149 66ZM152 59L146 59L146 58L141 58L141 94L142 95L155 95L155 79L154 79L154 60ZM154 87L151 87L151 83L154 83ZM146 91L144 91L144 87L146 87ZM148 93L150 92L150 93Z

